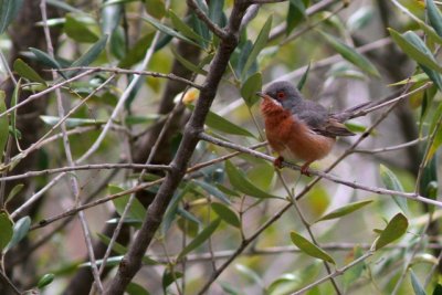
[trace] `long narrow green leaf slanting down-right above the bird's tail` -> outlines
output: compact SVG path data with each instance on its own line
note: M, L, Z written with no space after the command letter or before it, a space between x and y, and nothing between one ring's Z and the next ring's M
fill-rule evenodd
M335 36L320 32L325 40L338 52L345 60L349 61L367 74L379 77L380 74L376 66L362 54L358 53L354 48L348 46Z

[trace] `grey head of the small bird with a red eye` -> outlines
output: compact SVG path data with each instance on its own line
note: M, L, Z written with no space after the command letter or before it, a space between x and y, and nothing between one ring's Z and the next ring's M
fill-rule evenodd
M288 81L274 82L262 94L272 97L286 109L292 109L303 103L302 94Z

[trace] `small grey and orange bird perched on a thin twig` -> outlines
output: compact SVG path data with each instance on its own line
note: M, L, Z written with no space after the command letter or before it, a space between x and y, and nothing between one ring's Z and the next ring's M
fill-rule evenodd
M385 101L369 102L339 113L329 113L324 106L303 98L287 81L274 82L264 92L261 113L270 146L280 155L274 165L282 166L284 158L304 160L301 173L309 176L308 166L330 152L337 136L354 136L344 122L366 115L365 109L379 106Z

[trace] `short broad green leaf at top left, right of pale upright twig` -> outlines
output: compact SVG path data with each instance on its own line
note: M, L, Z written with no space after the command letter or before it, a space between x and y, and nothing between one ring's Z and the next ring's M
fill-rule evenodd
M98 36L93 31L91 31L90 27L90 21L84 21L84 19L75 14L66 14L64 32L74 41L85 43L96 42L98 40Z

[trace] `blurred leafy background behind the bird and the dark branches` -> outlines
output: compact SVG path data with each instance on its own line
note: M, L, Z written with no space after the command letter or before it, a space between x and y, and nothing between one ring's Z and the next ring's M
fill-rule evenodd
M234 4L196 2L220 28ZM0 122L3 134L9 134L0 138L3 176L70 166L56 94L45 93L53 85L59 85L65 112L75 108L65 127L77 165L170 162L198 91L173 78L143 75L138 80L134 71L173 73L204 83L220 40L186 1L0 3L0 110L10 108L8 119ZM380 109L349 122L358 136L339 139L333 154L313 168L324 170L347 152L330 172L339 179L436 200L442 143L440 4L291 0L252 7L217 89L206 133L244 147L262 143L263 122L254 93L275 80L291 81L308 99L335 110L427 85L391 113ZM146 57L149 50L150 59ZM76 66L95 70L63 85L87 70L60 71L54 76L48 71ZM38 97L25 101L32 95ZM20 102L27 103L12 110ZM381 124L352 148L382 114ZM105 126L109 131L101 143ZM42 138L48 140L33 145ZM83 157L94 143L98 149ZM257 150L271 152L266 147ZM231 152L201 140L189 167ZM74 173L81 204L164 176L157 170L104 168ZM40 173L1 182L1 272L21 291L88 294L92 288L80 221L67 217L39 223L75 206L70 175ZM127 293L197 294L209 282L208 294L291 294L327 275L324 263L334 273L362 256L354 267L336 273L335 286L326 281L307 294L441 294L440 206L329 180L294 200L311 181L297 170L278 173L272 162L246 154L189 173ZM104 284L115 274L157 190L152 186L136 192L107 260ZM25 201L35 196L28 206ZM128 199L85 211L97 260ZM275 222L269 223L272 219ZM241 251L235 253L236 249ZM235 259L228 261L231 255ZM210 281L221 266L225 270ZM15 294L4 280L0 293Z

